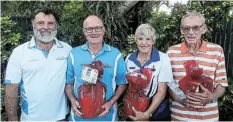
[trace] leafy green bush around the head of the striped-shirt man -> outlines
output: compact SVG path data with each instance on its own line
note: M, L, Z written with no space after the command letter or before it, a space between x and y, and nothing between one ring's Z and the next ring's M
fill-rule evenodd
M171 45L180 43L182 35L180 33L180 20L186 13L196 11L204 15L208 26L208 33L204 39L209 40L212 37L213 30L223 26L223 20L230 20L230 9L233 2L225 1L192 1L187 5L176 3L173 6L171 14L163 12L152 12L152 17L148 19L157 31L156 47L161 51L166 51Z

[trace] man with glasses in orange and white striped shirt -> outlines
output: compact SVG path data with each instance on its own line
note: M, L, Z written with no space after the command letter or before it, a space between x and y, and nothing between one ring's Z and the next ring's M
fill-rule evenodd
M194 60L198 67L203 69L202 75L213 79L214 90L209 91L203 85L199 85L199 91L202 92L184 92L182 99L178 97L178 92L170 89L172 120L216 121L219 119L217 100L224 95L228 86L223 49L201 38L207 31L207 26L200 13L192 12L183 16L180 30L184 41L170 47L167 52L171 60L174 82L180 85L179 82L187 75L185 62Z

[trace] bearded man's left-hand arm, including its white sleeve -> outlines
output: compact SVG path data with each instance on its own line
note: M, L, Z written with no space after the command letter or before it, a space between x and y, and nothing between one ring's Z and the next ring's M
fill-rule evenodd
M21 49L15 48L9 58L5 75L4 103L8 116L8 121L18 121L18 92L22 79Z

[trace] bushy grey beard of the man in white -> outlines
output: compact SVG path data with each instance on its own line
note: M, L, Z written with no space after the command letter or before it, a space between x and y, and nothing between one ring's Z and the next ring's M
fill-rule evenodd
M36 37L36 39L38 39L42 42L45 42L45 43L53 41L57 35L57 29L55 29L55 30L51 30L51 29L37 30L36 28L33 27L33 32L34 32L34 36ZM43 33L47 33L47 34L43 34Z

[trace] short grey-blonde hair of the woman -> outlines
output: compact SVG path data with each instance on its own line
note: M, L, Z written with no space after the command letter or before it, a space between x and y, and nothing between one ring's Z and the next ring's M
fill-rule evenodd
M151 25L141 24L140 26L138 26L138 28L135 31L135 37L137 38L143 35L146 37L150 37L155 42L156 39L155 33L156 31Z

